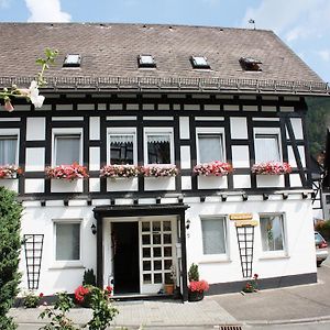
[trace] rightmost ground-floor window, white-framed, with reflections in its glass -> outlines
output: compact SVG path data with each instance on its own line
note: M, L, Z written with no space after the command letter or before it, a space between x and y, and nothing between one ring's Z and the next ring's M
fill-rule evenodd
M260 215L262 251L265 254L284 254L286 251L284 216L280 213Z

